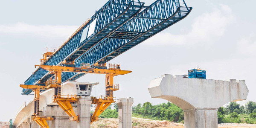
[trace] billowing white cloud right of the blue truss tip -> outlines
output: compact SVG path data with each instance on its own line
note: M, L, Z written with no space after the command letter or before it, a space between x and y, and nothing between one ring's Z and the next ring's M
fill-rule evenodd
M227 26L234 19L229 6L220 5L212 12L206 12L196 17L192 23L190 32L181 35L171 33L159 33L148 39L146 45L184 45L202 42L212 42L224 35ZM184 19L186 20L186 19Z

